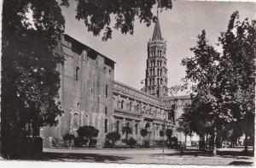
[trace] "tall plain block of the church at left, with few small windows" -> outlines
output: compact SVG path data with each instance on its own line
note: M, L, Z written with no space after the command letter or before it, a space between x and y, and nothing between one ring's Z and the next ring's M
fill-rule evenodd
M42 137L61 139L67 132L77 135L79 126L90 125L100 131L98 143L102 143L105 119L108 123L112 119L113 61L88 51L73 38L62 37L60 53L65 61L58 65L58 70L61 77L59 101L64 113L57 117L57 126L41 129Z

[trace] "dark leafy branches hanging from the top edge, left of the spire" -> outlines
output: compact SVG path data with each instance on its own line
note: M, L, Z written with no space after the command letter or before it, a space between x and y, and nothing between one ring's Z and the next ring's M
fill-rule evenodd
M61 5L68 7L69 2L62 0ZM113 29L124 34L133 34L136 18L149 26L156 18L151 11L156 3L160 8L172 8L172 0L77 0L76 2L76 19L83 20L87 30L92 31L94 36L99 36L104 31L103 41L111 38ZM115 22L111 20L112 15Z

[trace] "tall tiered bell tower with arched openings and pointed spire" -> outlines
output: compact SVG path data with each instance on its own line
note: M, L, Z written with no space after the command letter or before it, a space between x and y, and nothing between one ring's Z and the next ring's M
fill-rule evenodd
M168 96L166 69L166 41L161 36L160 20L154 25L152 39L148 41L148 59L145 80L145 92L158 98Z

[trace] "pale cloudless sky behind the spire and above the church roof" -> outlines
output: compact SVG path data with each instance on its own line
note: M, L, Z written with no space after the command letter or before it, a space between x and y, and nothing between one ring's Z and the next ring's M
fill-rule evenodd
M154 23L147 27L135 21L133 35L124 35L113 30L112 39L102 42L102 36L93 36L87 31L83 21L75 19L75 1L70 1L70 7L61 7L66 19L66 34L73 36L90 48L113 59L115 64L114 79L131 87L141 89L140 81L145 79L147 43L152 38ZM180 84L185 76L182 59L193 56L189 48L196 45L197 35L204 29L207 39L215 45L221 31L225 31L230 15L236 10L240 19L256 19L256 3L227 2L195 2L173 1L170 10L159 14L161 34L166 40L166 59L168 86ZM153 11L156 11L155 8Z

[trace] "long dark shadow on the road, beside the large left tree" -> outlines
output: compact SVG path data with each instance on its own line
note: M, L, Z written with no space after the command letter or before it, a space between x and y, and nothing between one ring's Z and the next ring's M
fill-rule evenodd
M91 161L91 162L108 162L108 161L124 161L131 159L129 157L104 155L104 154L60 154L60 153L44 153L42 160L57 161Z

